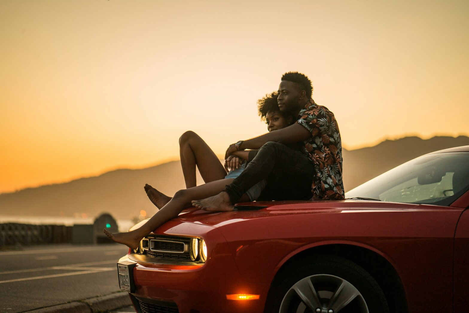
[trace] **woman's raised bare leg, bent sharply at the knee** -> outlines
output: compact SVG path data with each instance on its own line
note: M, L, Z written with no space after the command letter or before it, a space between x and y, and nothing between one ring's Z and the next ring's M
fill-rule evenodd
M227 175L212 149L192 131L185 132L179 138L179 153L186 188L197 186L196 165L205 183L224 179Z

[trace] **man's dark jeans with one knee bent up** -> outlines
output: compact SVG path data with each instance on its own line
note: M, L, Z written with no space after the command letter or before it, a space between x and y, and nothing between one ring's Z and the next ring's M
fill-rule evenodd
M225 188L233 204L262 179L267 180L267 186L257 200L311 198L314 164L300 151L267 142L259 150L251 151L249 159L246 169Z

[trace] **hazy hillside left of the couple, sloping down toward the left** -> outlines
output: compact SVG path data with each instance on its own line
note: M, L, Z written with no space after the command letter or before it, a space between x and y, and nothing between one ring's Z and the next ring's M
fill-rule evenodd
M203 182L200 176L197 182ZM168 195L185 188L179 161L141 170L109 171L68 183L0 194L0 215L74 216L85 213L94 217L109 212L115 218L130 219L143 209L151 216L157 209L145 194L145 184Z

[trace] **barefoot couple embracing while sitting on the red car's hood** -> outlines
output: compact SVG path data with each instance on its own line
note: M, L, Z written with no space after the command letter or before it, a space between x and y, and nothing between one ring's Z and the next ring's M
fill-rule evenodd
M159 208L146 224L106 235L136 249L140 240L190 206L230 211L244 201L342 200L342 145L334 114L312 99L311 81L285 73L278 92L258 100L269 133L231 144L223 166L194 132L179 139L186 188L173 197L144 189ZM205 184L196 186L196 166ZM227 170L231 169L227 173Z

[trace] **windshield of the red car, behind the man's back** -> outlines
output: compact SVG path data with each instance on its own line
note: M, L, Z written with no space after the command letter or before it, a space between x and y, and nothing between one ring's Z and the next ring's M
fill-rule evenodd
M469 153L417 157L348 191L346 198L450 205L469 189Z

